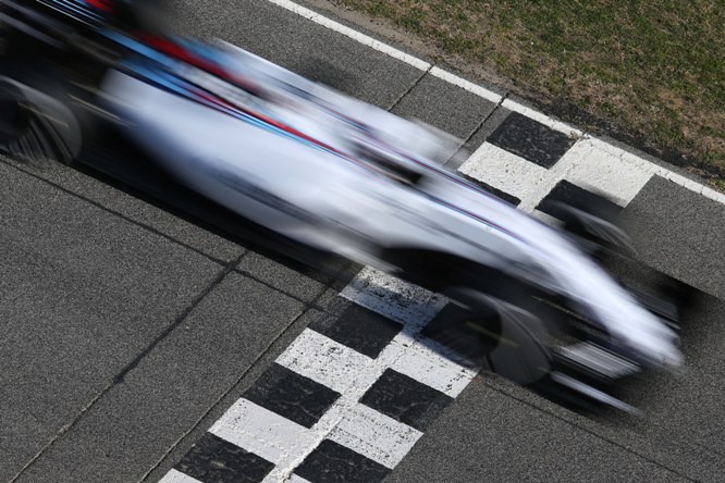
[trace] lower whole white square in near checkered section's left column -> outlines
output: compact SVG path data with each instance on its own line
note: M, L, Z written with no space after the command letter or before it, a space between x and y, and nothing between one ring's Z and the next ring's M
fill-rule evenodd
M209 432L273 463L311 443L306 428L244 398L229 408Z

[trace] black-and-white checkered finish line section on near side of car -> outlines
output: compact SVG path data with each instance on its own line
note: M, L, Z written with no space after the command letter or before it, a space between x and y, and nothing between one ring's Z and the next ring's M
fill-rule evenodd
M381 481L476 374L420 334L445 302L364 270L162 481Z

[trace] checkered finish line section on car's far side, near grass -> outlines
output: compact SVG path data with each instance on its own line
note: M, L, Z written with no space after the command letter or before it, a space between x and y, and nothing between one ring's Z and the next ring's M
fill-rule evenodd
M511 112L458 171L544 219L546 210L538 208L562 182L579 198L589 191L626 207L658 174L654 164L623 149L519 112Z

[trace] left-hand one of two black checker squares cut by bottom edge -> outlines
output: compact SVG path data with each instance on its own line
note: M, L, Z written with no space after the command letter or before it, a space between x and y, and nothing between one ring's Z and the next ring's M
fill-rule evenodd
M175 470L204 483L258 483L274 463L239 448L211 433L206 433L188 450Z

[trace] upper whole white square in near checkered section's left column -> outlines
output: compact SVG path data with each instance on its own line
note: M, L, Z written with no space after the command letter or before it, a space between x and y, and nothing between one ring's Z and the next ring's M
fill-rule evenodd
M337 393L354 384L371 362L369 357L309 329L277 359L277 363Z

